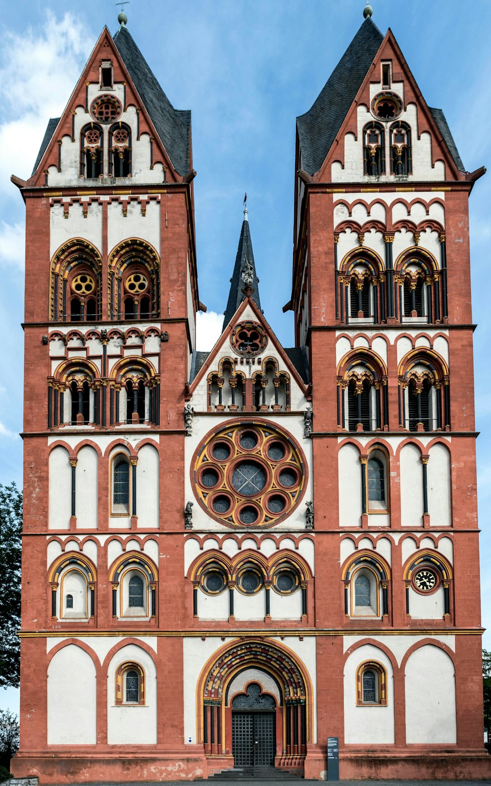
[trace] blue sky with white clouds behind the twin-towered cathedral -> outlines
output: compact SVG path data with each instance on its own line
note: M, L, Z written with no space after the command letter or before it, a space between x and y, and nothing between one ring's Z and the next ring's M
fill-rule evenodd
M213 312L202 348L222 324L247 207L261 303L287 346L291 294L295 116L306 112L362 23L363 0L133 0L128 29L176 108L192 109L200 299ZM491 3L374 0L373 21L390 27L431 106L449 121L468 171L491 163ZM21 485L24 205L10 174L31 174L49 116L59 116L104 24L118 28L112 0L16 0L2 4L0 52L0 483ZM491 397L488 266L491 173L471 195L478 493L483 624L491 628ZM214 316L216 314L216 316ZM6 355L6 357L5 357ZM8 369L8 370L7 370ZM477 566L476 566L477 570ZM470 576L469 581L475 581ZM484 646L491 649L491 633ZM14 692L0 707L16 709Z

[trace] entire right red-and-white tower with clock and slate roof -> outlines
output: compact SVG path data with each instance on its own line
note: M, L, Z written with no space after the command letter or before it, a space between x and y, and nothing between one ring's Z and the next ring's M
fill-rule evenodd
M289 306L313 385L316 623L335 631L317 738L339 736L345 778L484 777L467 199L485 170L370 17L297 118Z

